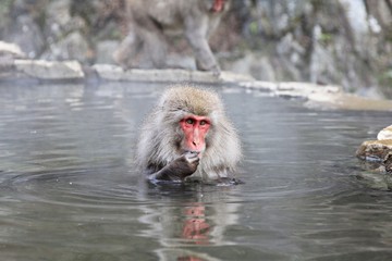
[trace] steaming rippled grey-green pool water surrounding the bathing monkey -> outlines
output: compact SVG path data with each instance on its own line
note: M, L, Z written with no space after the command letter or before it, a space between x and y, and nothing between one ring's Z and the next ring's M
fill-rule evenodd
M354 157L389 113L218 88L245 184L151 186L133 156L163 88L0 85L0 260L391 260L392 195Z

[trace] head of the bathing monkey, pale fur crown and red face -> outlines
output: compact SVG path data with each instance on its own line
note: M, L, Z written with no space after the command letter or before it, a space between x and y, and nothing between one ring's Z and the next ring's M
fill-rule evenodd
M192 87L169 89L160 100L162 124L172 129L179 153L194 151L201 157L211 145L223 105L217 94ZM174 135L173 135L174 134Z

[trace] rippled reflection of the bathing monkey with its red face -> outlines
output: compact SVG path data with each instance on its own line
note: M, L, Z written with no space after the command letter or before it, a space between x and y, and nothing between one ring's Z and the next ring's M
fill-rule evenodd
M160 188L159 197L167 195L168 191L179 192L166 190L167 186ZM232 196L226 198L224 192L232 188L220 187L209 190L204 197L200 197L199 191L195 191L194 195L187 194L185 201L168 197L166 198L170 200L168 204L159 208L145 206L139 220L147 226L142 235L158 240L159 246L155 252L159 260L220 260L213 257L215 253L205 252L204 246L234 245L225 236L228 227L240 222L237 213L241 203L233 202L237 202L238 199ZM222 199L222 196L231 202L217 200Z

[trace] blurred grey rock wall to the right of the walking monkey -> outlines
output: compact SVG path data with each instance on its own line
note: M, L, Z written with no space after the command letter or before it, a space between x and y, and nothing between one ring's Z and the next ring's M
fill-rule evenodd
M391 0L243 3L247 48L226 69L264 80L336 84L365 96L381 90L392 97Z

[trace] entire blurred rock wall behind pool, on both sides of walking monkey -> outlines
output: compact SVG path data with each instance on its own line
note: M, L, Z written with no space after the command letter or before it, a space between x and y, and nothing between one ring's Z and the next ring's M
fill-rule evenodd
M113 63L124 10L124 0L3 0L0 39L30 59ZM392 0L234 0L210 42L226 71L392 97ZM173 44L174 63L189 64L185 40Z

